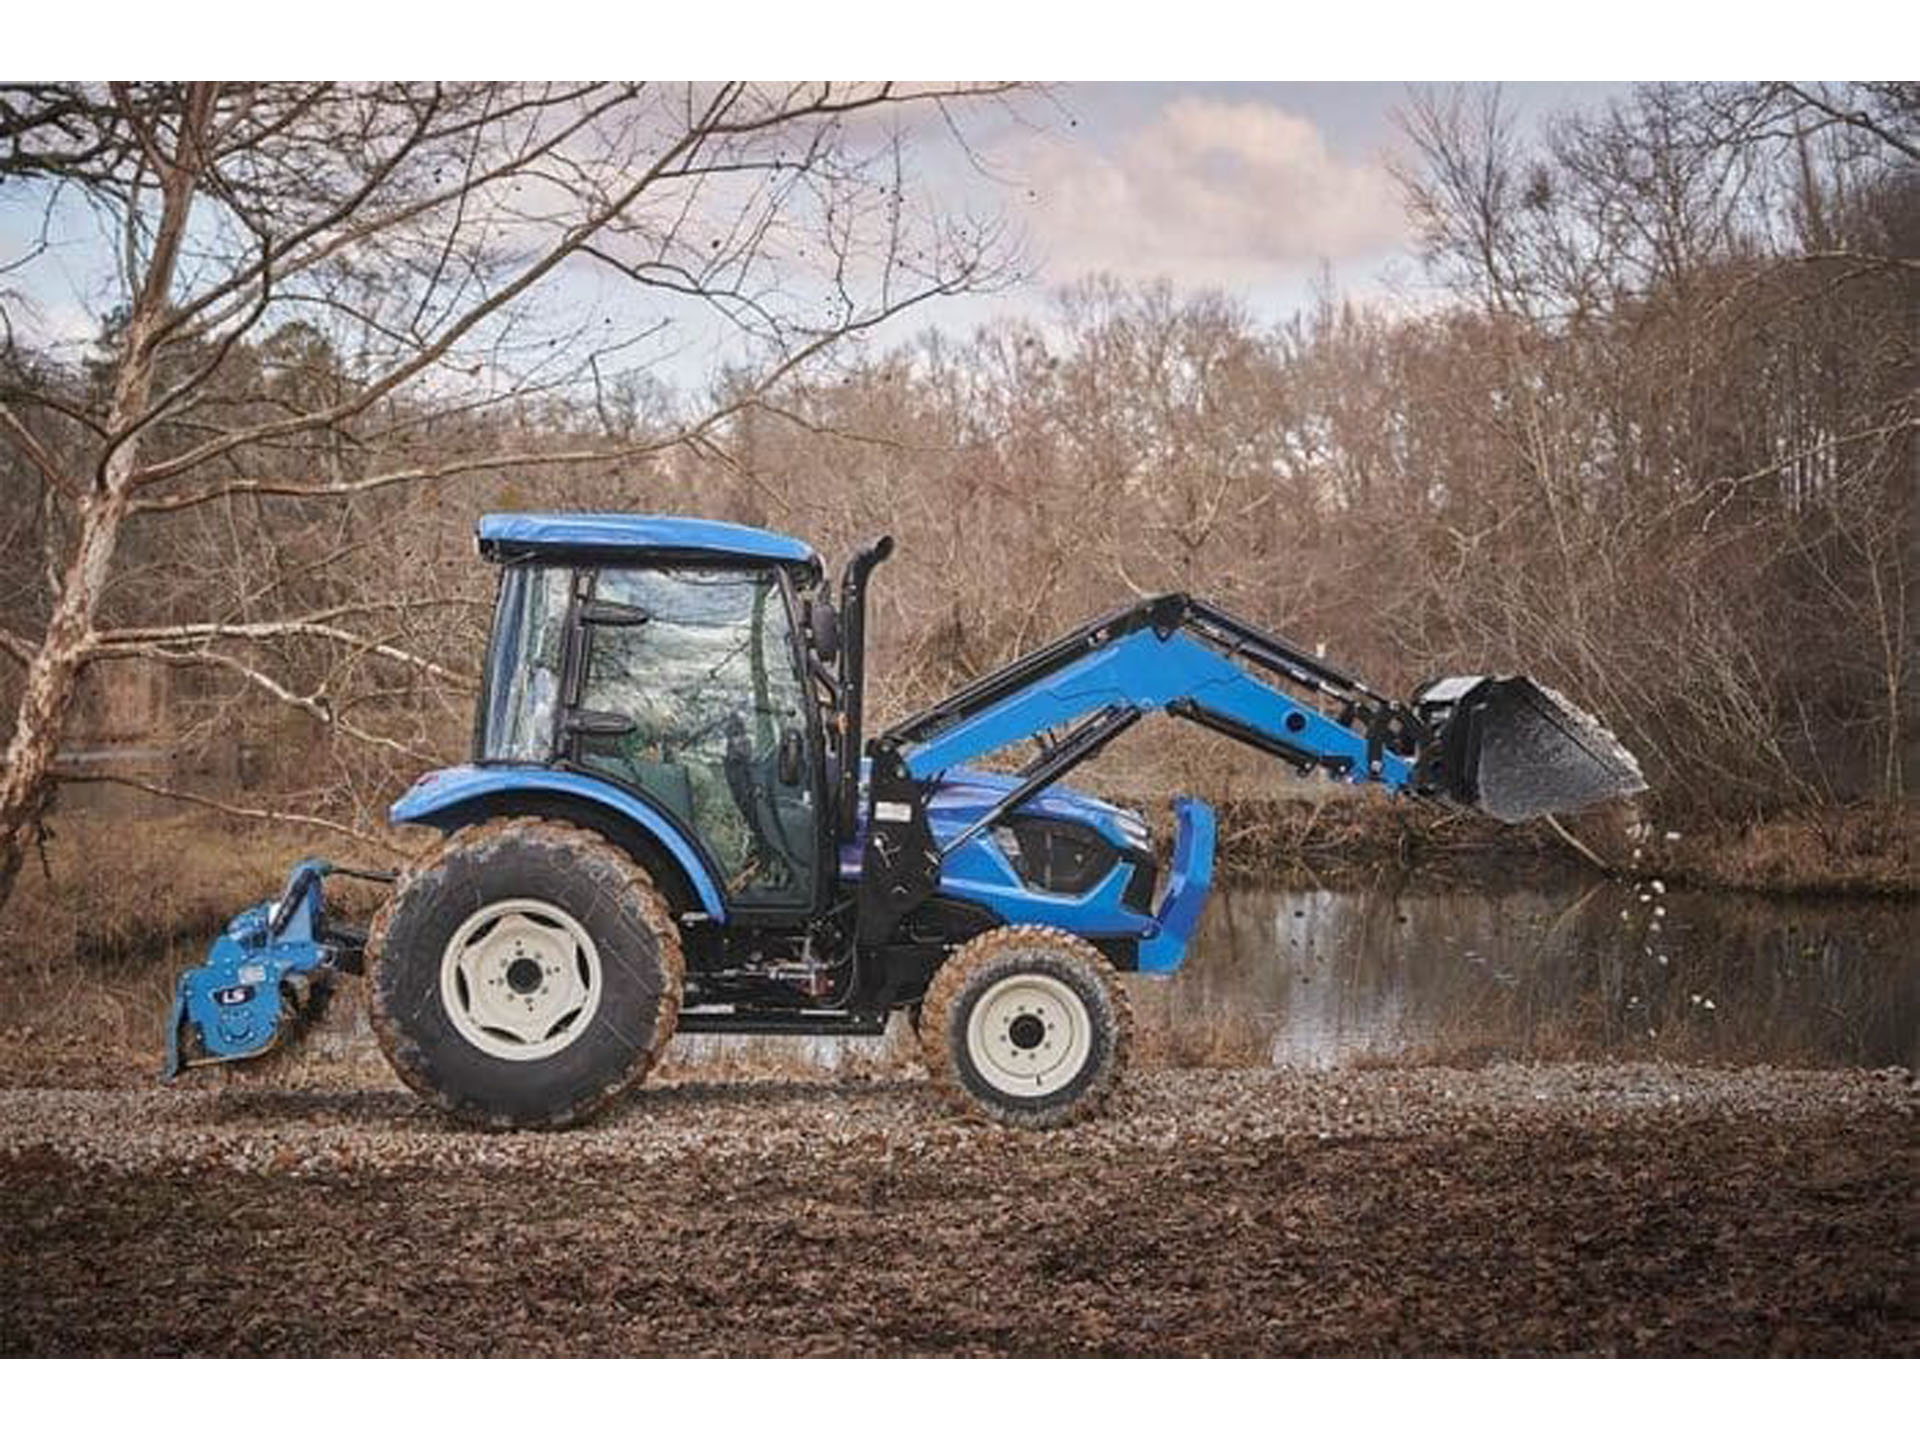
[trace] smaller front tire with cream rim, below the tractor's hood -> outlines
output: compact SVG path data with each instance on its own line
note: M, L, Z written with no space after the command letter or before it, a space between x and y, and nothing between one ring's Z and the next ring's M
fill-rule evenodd
M933 1083L962 1110L1060 1129L1112 1098L1133 1012L1092 945L1046 925L1006 925L962 945L933 975L920 1043Z

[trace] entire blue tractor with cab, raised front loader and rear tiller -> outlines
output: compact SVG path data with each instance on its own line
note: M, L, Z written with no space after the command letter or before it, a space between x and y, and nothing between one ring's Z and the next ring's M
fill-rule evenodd
M645 515L490 515L499 566L472 764L392 810L440 845L365 935L323 862L180 977L167 1073L278 1044L340 972L415 1091L493 1127L580 1121L687 1031L918 1027L954 1102L1046 1129L1129 1046L1121 973L1181 966L1213 814L1058 781L1150 712L1304 774L1501 820L1642 787L1596 720L1524 678L1390 701L1187 595L1092 620L862 735L866 589L787 536ZM864 743L862 743L864 741ZM1037 749L1018 770L975 764Z

